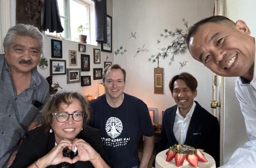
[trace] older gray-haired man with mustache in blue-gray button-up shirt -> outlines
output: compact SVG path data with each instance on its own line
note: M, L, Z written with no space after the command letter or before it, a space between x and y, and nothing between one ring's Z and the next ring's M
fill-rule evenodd
M44 36L38 28L24 24L9 28L3 47L5 54L0 54L0 167L6 168L12 163L24 134L38 126L39 110L49 97L49 84L36 69L44 50Z

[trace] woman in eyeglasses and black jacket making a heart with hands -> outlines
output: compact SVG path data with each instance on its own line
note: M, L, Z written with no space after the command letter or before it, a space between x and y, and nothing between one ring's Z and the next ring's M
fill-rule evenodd
M26 134L11 168L109 168L99 130L86 125L82 95L58 92L42 113L42 126Z

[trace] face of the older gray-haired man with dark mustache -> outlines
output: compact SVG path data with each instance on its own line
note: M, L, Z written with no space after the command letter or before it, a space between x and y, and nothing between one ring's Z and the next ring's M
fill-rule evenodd
M5 58L11 70L29 73L40 61L41 45L38 39L16 35L5 52Z

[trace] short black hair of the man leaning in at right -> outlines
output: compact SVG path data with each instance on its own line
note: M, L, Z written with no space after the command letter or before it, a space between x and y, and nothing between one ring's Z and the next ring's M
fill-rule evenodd
M212 16L212 17L207 17L203 20L200 20L199 22L195 23L191 28L189 28L188 35L186 36L187 45L189 46L189 39L198 31L199 26L205 23L220 23L220 22L229 22L229 23L235 24L235 22L233 22L232 20L224 16Z

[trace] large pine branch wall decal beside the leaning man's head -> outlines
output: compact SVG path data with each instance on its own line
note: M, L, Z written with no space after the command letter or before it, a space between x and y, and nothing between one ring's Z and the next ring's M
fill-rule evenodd
M175 37L175 39L167 47L160 48L160 52L152 54L151 58L148 59L149 61L152 61L152 63L154 63L156 62L156 59L159 59L159 57L165 58L171 55L172 57L169 62L169 65L171 65L174 61L174 56L186 53L186 49L188 48L186 45L186 36L188 34L189 27L188 22L185 21L184 18L182 19L182 21L183 25L185 26L184 31L179 28L176 28L175 31L168 31L168 29L164 29L164 33L160 34L161 37L164 37L165 39L167 39L168 37Z

